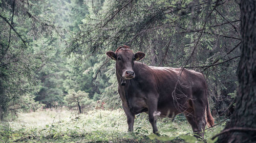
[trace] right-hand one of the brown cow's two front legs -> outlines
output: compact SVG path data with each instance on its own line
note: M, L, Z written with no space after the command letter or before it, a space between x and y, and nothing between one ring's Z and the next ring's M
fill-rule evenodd
M153 96L148 96L153 97ZM158 129L157 129L157 98L150 98L147 101L148 105L148 120L150 121L152 127L153 127L153 133L159 135Z

